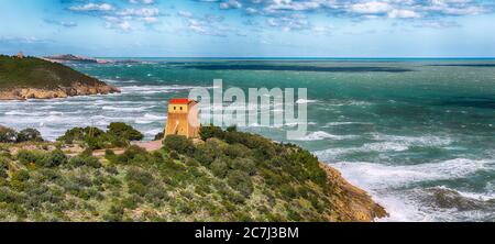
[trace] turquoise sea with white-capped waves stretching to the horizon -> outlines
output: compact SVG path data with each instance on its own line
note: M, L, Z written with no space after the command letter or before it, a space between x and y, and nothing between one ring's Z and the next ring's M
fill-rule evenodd
M112 121L152 138L167 100L194 87L307 88L292 141L340 169L391 213L384 221L495 221L495 59L122 58L72 64L120 95L0 102L0 124L67 129ZM285 126L241 130L286 141Z

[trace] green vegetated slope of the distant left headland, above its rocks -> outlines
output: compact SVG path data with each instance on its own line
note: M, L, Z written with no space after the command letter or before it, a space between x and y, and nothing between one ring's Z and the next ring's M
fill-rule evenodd
M74 82L89 86L101 81L67 66L35 57L16 58L0 55L0 89L70 87Z

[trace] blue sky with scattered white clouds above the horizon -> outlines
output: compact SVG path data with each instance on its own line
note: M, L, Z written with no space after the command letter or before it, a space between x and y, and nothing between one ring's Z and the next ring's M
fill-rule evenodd
M0 0L0 53L494 57L484 0Z

